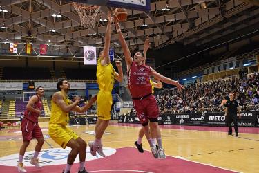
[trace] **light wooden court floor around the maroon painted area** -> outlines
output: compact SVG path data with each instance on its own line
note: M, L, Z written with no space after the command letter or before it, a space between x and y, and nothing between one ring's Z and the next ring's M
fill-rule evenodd
M48 122L40 122L44 135L48 136ZM91 134L95 125L71 127L86 141L94 140ZM121 148L135 147L137 132L140 127L135 125L119 125L111 122L102 141L105 147ZM238 138L228 136L226 132L202 131L200 129L186 130L184 126L171 129L162 127L162 143L167 156L174 156L189 161L195 161L216 167L222 167L237 172L259 172L259 133L240 133ZM225 128L225 127L223 127ZM249 127L247 127L249 128ZM216 130L215 130L216 129ZM226 129L227 130L227 129ZM86 133L89 132L89 134ZM245 131L245 129L244 129ZM256 129L256 131L259 131ZM0 157L19 153L21 132L19 127L10 127L0 131ZM27 151L33 151L36 140L32 140ZM150 150L146 139L144 149ZM43 149L59 147L51 138L46 138ZM173 163L172 163L173 164Z

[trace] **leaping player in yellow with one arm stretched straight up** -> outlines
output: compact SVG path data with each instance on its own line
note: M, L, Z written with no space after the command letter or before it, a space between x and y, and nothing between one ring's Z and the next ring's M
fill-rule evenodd
M111 41L111 12L108 12L108 24L106 28L104 50L99 53L99 60L97 62L97 83L99 85L99 93L97 95L97 116L98 120L95 125L95 141L89 142L90 152L96 156L96 152L105 157L102 150L101 138L104 131L108 127L109 120L111 119L111 105L113 98L111 91L113 89L114 79L119 82L123 80L122 63L116 61L119 73L116 73L110 62L109 48Z

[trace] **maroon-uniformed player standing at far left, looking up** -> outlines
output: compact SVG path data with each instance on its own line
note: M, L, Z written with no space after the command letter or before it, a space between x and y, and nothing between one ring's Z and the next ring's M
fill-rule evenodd
M36 95L33 95L30 98L26 106L26 111L24 112L24 117L21 122L23 145L21 145L19 161L17 163L18 172L26 172L23 167L23 156L32 138L36 138L38 143L35 147L35 154L30 159L30 164L35 165L35 167L41 167L37 157L39 155L39 152L41 151L42 145L44 144L44 136L38 124L38 117L41 115L41 97L43 96L44 88L41 86L37 87Z

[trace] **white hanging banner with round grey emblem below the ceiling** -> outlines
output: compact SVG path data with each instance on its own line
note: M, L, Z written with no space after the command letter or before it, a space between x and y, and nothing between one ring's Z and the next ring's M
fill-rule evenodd
M96 47L84 46L84 64L96 65Z

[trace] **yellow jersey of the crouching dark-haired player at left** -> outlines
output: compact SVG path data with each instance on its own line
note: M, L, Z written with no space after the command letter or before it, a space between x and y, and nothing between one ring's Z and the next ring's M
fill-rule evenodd
M62 95L64 102L66 105L70 104L68 98L63 95L60 91L59 93ZM49 124L58 124L58 125L68 125L69 115L68 112L62 111L62 109L53 101L51 100L51 112L50 112L50 122Z

